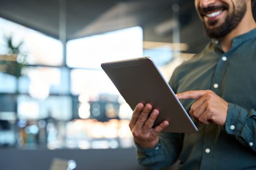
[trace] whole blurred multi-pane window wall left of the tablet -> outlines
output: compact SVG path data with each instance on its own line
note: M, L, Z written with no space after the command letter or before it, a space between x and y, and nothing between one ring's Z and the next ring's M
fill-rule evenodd
M142 57L140 27L70 40L63 61L59 40L2 18L0 26L0 55L11 53L5 38L11 37L14 46L23 42L27 56L23 76L0 72L0 127L8 127L0 130L0 145L15 145L18 134L20 148L133 146L132 110L100 64Z

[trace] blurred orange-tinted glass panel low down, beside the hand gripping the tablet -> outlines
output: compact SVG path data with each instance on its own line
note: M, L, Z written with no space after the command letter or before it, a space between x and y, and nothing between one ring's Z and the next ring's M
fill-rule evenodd
M68 148L114 149L133 147L129 120L111 119L98 122L95 119L74 120L67 124Z

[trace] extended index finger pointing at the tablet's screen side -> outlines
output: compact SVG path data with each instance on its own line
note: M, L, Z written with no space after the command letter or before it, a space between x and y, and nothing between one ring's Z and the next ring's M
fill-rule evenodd
M179 100L184 100L184 99L199 99L202 98L202 96L206 93L210 93L211 90L192 90L192 91L186 91L183 93L177 94L177 98Z

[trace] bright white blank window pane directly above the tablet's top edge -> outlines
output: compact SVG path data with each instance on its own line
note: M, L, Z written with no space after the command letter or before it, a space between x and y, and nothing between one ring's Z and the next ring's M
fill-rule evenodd
M102 62L142 57L140 27L118 30L67 42L69 67L100 68Z

